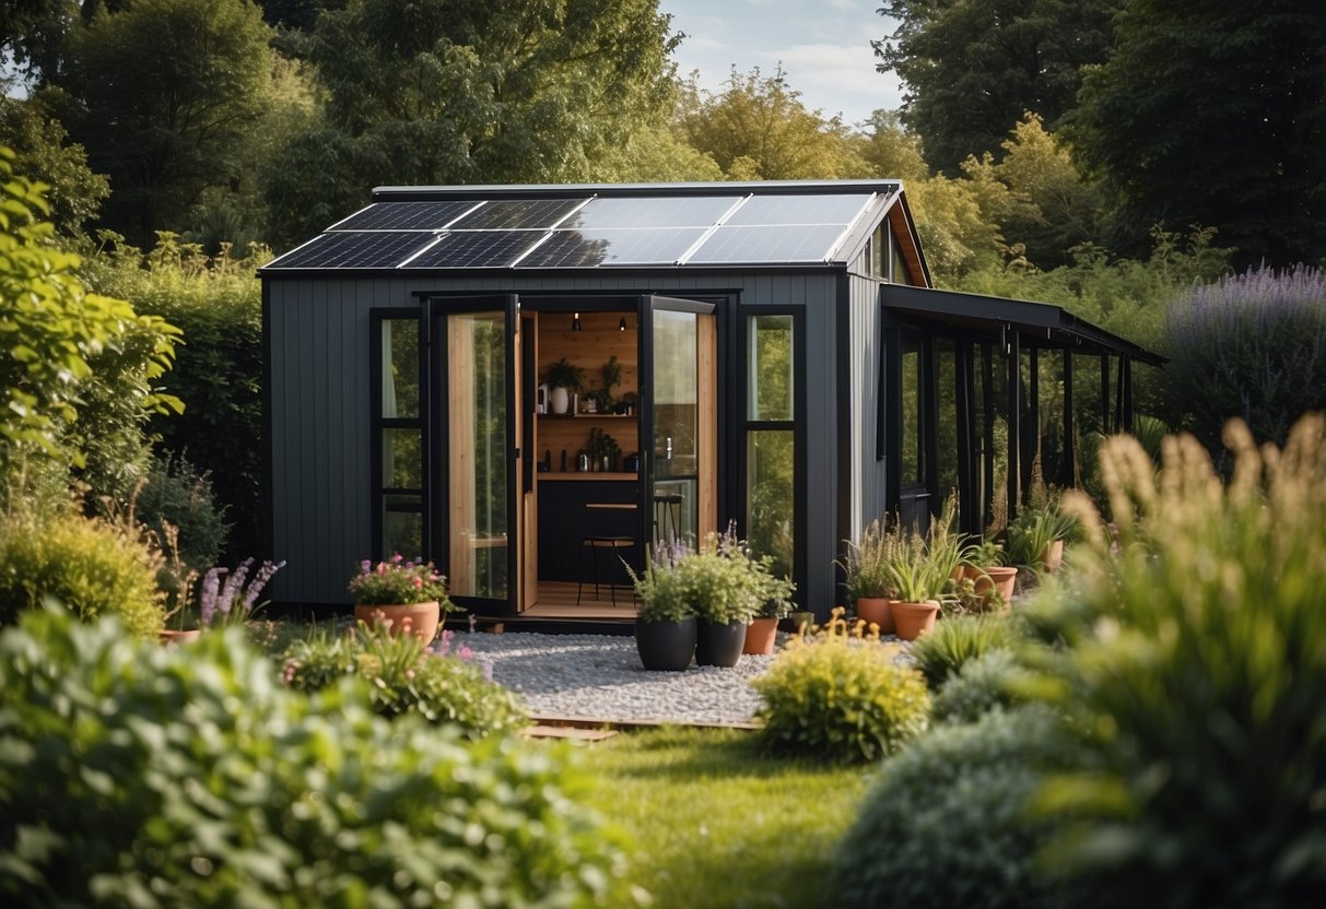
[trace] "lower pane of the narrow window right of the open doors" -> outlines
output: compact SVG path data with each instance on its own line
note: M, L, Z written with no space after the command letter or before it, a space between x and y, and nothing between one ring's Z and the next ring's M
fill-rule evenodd
M796 443L790 429L747 435L747 537L756 555L773 557L773 572L792 576Z

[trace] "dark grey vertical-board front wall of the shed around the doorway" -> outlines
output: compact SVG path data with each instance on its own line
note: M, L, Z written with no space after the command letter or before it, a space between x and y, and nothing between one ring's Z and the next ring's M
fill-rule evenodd
M798 519L805 557L802 592L804 604L810 608L826 612L831 606L839 525L841 270L265 278L272 351L268 390L272 541L274 558L288 562L276 576L277 602L347 603L345 583L359 559L373 551L370 310L416 305L419 292L686 295L735 290L740 293L743 314L760 306L796 306L805 311L801 343L806 351L806 407L800 441L805 447L806 508ZM727 517L720 514L720 521Z

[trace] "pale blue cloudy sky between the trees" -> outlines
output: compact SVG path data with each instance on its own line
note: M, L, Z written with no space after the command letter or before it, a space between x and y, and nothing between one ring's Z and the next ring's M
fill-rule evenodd
M732 66L758 66L772 76L782 62L788 85L809 110L842 114L859 123L871 111L896 110L902 90L892 73L875 72L873 38L894 27L876 11L882 0L659 0L672 15L672 30L686 40L672 58L687 77L700 70L700 86L720 90Z

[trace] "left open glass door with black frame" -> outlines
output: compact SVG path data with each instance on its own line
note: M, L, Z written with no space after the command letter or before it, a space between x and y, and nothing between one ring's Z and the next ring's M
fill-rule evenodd
M520 363L516 297L434 301L436 421L446 482L435 514L452 599L489 614L520 602Z

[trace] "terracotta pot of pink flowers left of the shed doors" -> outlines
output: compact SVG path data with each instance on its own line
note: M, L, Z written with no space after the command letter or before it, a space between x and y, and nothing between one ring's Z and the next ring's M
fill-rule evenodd
M457 608L432 562L407 562L399 554L377 564L361 562L347 590L355 621L383 624L392 635L412 633L424 644L438 636L443 612Z

